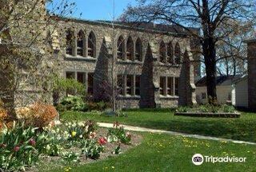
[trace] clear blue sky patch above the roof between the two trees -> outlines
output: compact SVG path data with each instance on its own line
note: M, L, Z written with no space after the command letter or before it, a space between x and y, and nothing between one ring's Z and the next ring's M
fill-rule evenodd
M56 2L61 0L55 0ZM88 20L111 20L113 16L114 0L72 0L76 3L77 9L72 17ZM126 6L136 5L135 0L115 0L115 16L122 14ZM82 16L80 17L80 13Z

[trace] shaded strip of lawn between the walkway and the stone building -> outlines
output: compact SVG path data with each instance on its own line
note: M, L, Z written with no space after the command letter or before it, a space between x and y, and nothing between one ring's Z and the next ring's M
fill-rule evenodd
M243 113L241 118L194 118L174 116L174 110L127 110L128 117L106 117L81 112L65 112L67 121L94 119L97 122L121 122L131 126L202 134L256 142L256 114Z

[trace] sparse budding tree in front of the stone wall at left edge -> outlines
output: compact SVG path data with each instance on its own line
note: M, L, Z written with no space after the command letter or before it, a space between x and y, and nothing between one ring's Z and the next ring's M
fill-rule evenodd
M0 98L10 118L16 118L16 99L20 106L47 100L54 67L50 41L57 25L50 16L70 14L74 5L68 0L0 0ZM26 89L42 94L22 97Z

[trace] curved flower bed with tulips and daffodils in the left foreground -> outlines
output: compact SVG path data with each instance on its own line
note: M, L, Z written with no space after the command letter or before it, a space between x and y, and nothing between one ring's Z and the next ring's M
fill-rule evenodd
M98 130L93 121L68 122L60 126L51 123L43 130L14 122L14 126L4 126L0 132L0 169L34 171L38 162L47 162L47 166L51 163L54 167L94 162L120 154L141 140L121 126L114 130Z

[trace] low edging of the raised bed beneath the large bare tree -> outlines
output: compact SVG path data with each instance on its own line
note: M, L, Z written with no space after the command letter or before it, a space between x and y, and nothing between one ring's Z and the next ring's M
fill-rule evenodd
M239 113L203 113L203 112L175 112L175 116L206 117L206 118L240 118Z

